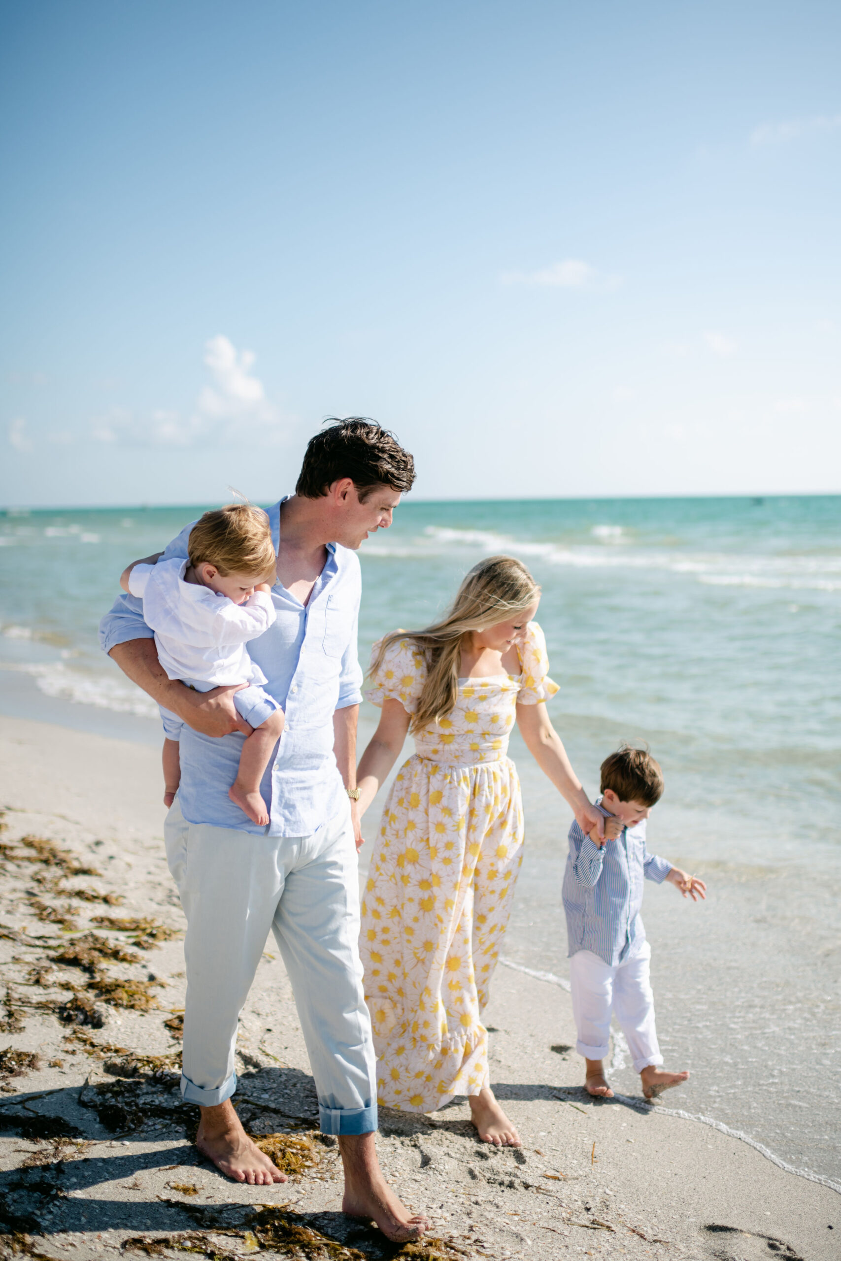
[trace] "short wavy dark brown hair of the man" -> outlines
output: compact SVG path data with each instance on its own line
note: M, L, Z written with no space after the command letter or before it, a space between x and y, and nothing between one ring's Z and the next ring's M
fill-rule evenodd
M309 440L295 494L318 499L343 477L351 478L361 503L376 485L406 494L415 482L415 460L376 420L330 417Z

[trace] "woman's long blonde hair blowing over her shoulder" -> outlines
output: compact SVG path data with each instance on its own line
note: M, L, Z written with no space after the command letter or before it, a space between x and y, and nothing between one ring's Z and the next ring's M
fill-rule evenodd
M537 599L540 586L521 561L513 556L488 556L473 566L440 622L422 630L387 634L380 643L371 673L377 673L392 643L411 639L416 644L426 661L426 680L411 721L411 730L419 731L427 723L445 718L455 706L465 636L525 613Z

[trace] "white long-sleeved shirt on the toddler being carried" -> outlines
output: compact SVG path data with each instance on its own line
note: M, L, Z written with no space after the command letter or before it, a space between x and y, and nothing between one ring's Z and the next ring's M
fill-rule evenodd
M266 682L246 651L276 618L267 591L255 591L235 604L209 586L185 583L189 560L161 560L135 565L129 590L142 600L144 622L155 632L158 660L169 678L206 683L209 691L224 683Z

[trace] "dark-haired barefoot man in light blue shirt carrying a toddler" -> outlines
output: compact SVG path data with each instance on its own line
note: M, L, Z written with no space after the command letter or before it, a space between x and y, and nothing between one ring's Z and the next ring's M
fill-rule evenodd
M248 643L286 718L261 784L271 803L267 827L228 798L242 735L251 731L232 701L237 689L195 692L168 678L134 596L121 596L100 627L102 647L124 673L187 724L165 837L187 915L182 1095L200 1108L197 1146L238 1182L285 1182L231 1103L237 1019L272 929L295 994L322 1130L338 1135L342 1207L373 1218L395 1241L416 1238L427 1223L390 1190L374 1149L376 1057L357 946L362 671L354 552L371 531L391 525L414 480L412 456L393 435L351 417L311 439L295 494L269 513L277 618ZM160 555L187 556L190 528Z

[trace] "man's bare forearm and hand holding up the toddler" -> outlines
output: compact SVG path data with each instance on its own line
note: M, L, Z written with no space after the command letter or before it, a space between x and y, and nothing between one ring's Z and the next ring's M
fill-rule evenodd
M178 678L168 678L158 660L154 639L129 639L117 643L110 652L124 675L141 687L148 696L163 705L203 735L229 735L242 731L251 735L252 728L240 716L233 704L233 694L247 683L232 687L214 687L209 692L194 692Z

